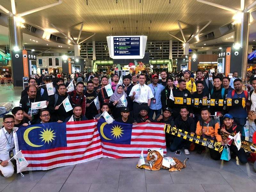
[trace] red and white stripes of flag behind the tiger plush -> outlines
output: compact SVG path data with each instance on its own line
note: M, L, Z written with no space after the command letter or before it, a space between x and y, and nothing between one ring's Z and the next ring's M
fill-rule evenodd
M164 124L132 125L131 144L101 142L101 147L104 157L112 158L139 157L142 148L144 148L144 156L147 156L148 149L153 148L162 148L166 154Z

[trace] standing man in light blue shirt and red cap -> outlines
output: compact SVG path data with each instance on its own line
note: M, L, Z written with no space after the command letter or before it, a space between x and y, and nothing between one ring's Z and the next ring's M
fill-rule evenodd
M164 86L158 84L158 75L152 75L152 83L148 86L150 87L154 98L151 99L151 103L148 110L149 118L153 119L154 113L161 115L162 112L162 103L161 103L161 92L164 90Z

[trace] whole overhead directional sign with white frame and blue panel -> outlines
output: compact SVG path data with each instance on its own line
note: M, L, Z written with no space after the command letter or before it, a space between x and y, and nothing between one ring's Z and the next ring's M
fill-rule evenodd
M109 56L113 59L142 59L147 36L107 36Z

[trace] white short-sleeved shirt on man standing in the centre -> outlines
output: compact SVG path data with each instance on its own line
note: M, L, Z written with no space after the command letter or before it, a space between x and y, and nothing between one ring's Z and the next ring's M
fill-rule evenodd
M137 103L148 103L148 100L154 97L150 87L146 84L142 86L140 84L134 85L129 96L132 96L133 92L136 92L133 101Z

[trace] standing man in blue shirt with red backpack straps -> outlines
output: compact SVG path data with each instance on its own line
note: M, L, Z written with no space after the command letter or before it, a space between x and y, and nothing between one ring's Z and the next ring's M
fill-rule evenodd
M227 99L245 98L248 102L248 92L242 89L243 83L241 79L234 80L235 90L230 90L227 94ZM246 124L247 111L242 106L232 106L228 108L228 113L233 116L234 121L238 125Z

